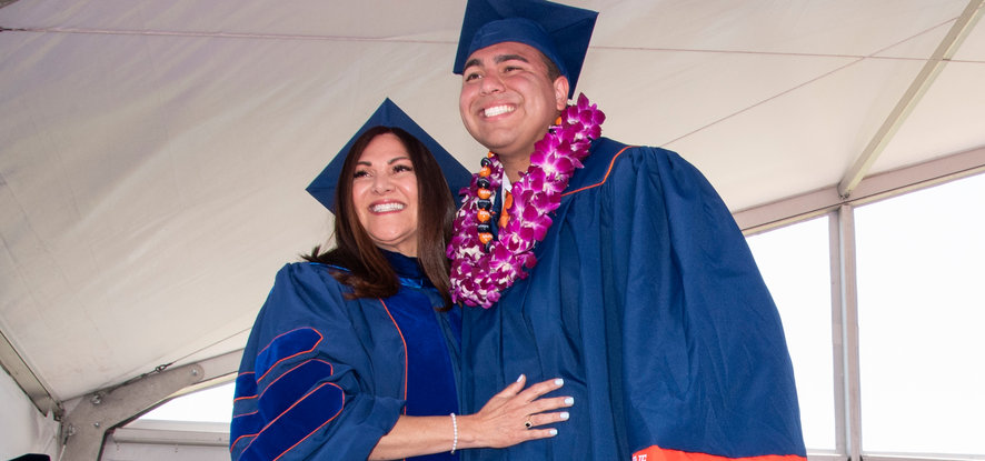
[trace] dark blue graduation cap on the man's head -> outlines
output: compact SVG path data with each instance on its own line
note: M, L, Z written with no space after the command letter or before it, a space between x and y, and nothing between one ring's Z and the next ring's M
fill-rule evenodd
M515 41L536 48L568 78L568 98L581 73L597 11L545 0L469 0L452 71L461 74L471 53Z

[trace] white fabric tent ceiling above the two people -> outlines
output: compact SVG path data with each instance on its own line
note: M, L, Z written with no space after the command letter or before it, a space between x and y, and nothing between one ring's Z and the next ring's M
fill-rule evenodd
M604 132L735 210L837 184L967 0L593 0ZM56 400L241 348L328 235L304 188L385 97L469 169L458 0L19 0L0 9L0 332ZM985 27L874 163L985 147Z

